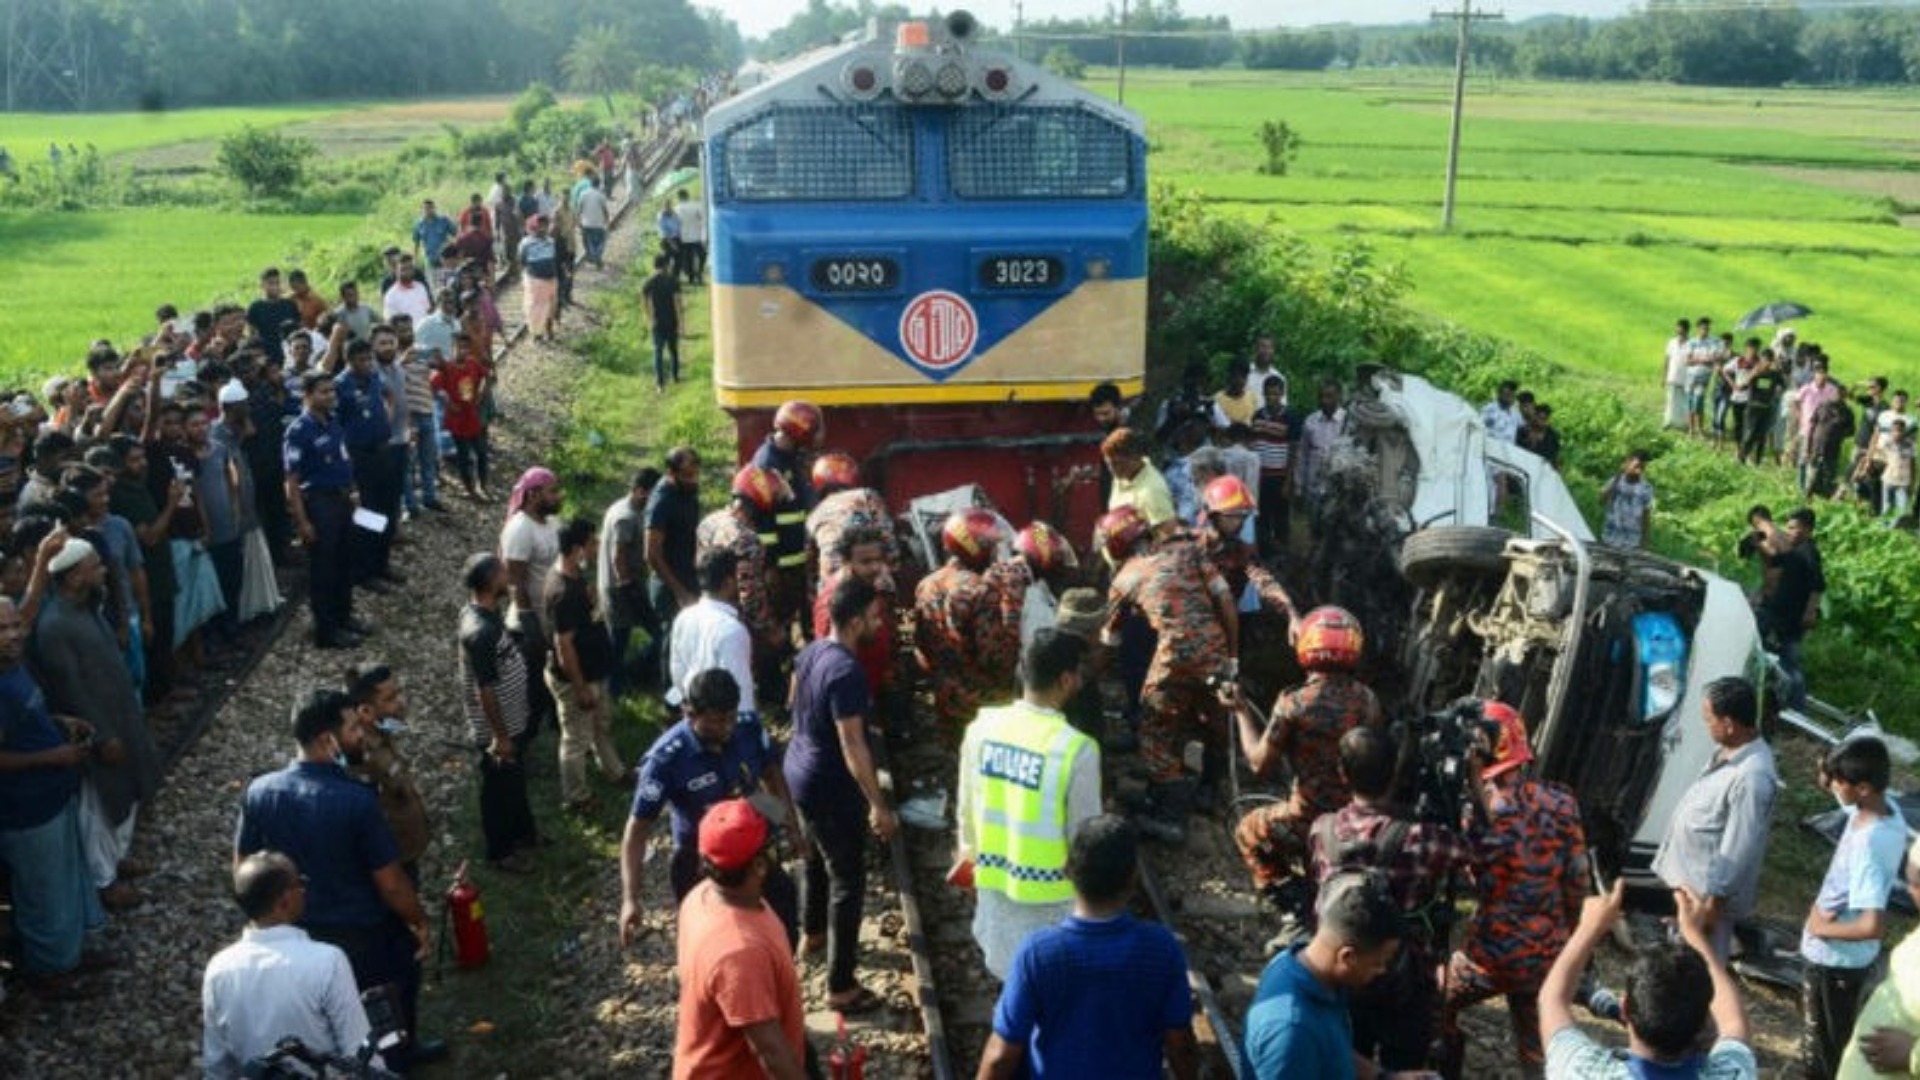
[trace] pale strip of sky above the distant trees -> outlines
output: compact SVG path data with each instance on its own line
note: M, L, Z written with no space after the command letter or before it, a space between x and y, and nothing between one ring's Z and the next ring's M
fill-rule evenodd
M766 37L768 31L785 25L806 0L695 0L701 8L720 8L739 23L747 37ZM1405 23L1427 19L1434 8L1453 8L1457 0L1181 0L1181 10L1188 15L1227 15L1236 29L1261 27L1311 27L1319 23ZM931 10L925 2L908 2L910 10ZM1116 0L1117 6L1117 0ZM1630 8L1630 0L1511 0L1476 2L1475 8L1505 12L1509 19L1524 19L1559 12L1567 15L1619 15ZM966 8L981 21L1000 29L1014 25L1014 0L947 0L939 4L943 12ZM1100 15L1108 8L1106 0L1027 0L1027 19L1087 17Z

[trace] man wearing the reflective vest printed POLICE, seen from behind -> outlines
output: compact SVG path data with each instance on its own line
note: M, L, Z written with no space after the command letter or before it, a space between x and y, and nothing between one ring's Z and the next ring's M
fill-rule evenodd
M1068 838L1100 813L1100 748L1062 711L1085 657L1083 638L1037 632L1025 694L981 709L960 746L958 857L973 863L973 940L1000 980L1027 934L1071 911Z

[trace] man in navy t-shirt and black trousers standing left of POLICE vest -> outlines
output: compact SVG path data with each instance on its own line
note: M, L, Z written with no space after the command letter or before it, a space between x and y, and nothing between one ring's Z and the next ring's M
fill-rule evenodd
M793 657L793 742L787 744L785 774L806 834L803 951L826 945L828 1007L839 1013L879 1007L879 995L852 976L866 899L866 834L872 826L887 842L900 824L879 790L868 748L866 719L874 701L856 659L879 626L877 600L872 584L849 575L833 588L833 634Z

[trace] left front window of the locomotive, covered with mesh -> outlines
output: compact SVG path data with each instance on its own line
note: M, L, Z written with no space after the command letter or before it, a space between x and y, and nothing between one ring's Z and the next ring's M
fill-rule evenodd
M726 133L726 194L741 202L854 202L914 194L904 110L778 106Z

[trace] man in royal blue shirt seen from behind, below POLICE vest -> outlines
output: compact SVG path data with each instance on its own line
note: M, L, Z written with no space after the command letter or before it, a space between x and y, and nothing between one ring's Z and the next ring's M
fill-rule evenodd
M1127 913L1139 855L1133 828L1114 815L1073 834L1073 915L1014 953L981 1076L1020 1076L1021 1063L1035 1080L1158 1080L1162 1065L1181 1080L1200 1074L1187 953L1165 926Z

